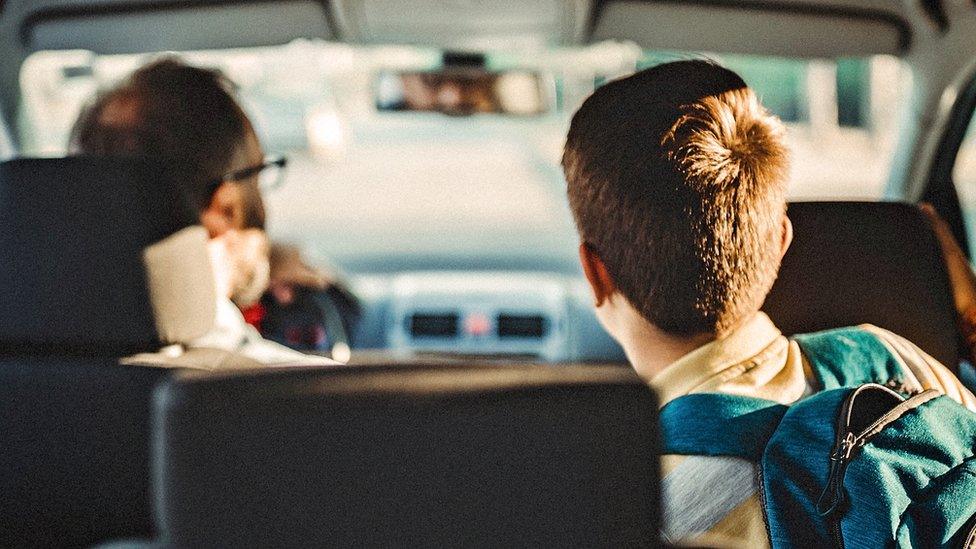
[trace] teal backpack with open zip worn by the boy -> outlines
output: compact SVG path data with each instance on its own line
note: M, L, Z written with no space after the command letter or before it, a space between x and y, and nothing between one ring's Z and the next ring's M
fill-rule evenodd
M900 361L865 330L794 339L823 391L792 406L677 398L661 410L664 453L757 463L773 547L976 549L976 413L897 392Z

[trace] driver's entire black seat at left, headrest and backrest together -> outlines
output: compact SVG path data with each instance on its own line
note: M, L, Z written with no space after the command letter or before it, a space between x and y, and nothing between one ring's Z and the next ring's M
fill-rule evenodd
M150 397L171 371L118 359L213 325L196 223L147 161L0 164L0 547L151 535Z

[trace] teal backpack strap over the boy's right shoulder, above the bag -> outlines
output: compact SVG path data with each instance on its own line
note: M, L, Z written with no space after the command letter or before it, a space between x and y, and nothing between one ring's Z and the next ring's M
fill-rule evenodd
M793 336L821 390L904 381L901 359L878 336L857 327Z

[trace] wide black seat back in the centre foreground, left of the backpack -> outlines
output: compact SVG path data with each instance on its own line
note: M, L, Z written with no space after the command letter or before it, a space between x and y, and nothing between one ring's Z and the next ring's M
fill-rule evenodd
M162 540L653 546L657 409L629 369L187 375L156 395Z

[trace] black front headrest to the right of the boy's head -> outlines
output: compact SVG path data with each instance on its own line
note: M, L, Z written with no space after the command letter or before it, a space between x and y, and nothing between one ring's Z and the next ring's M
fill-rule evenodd
M869 323L956 370L949 278L924 215L901 203L790 204L793 245L763 309L786 334Z

